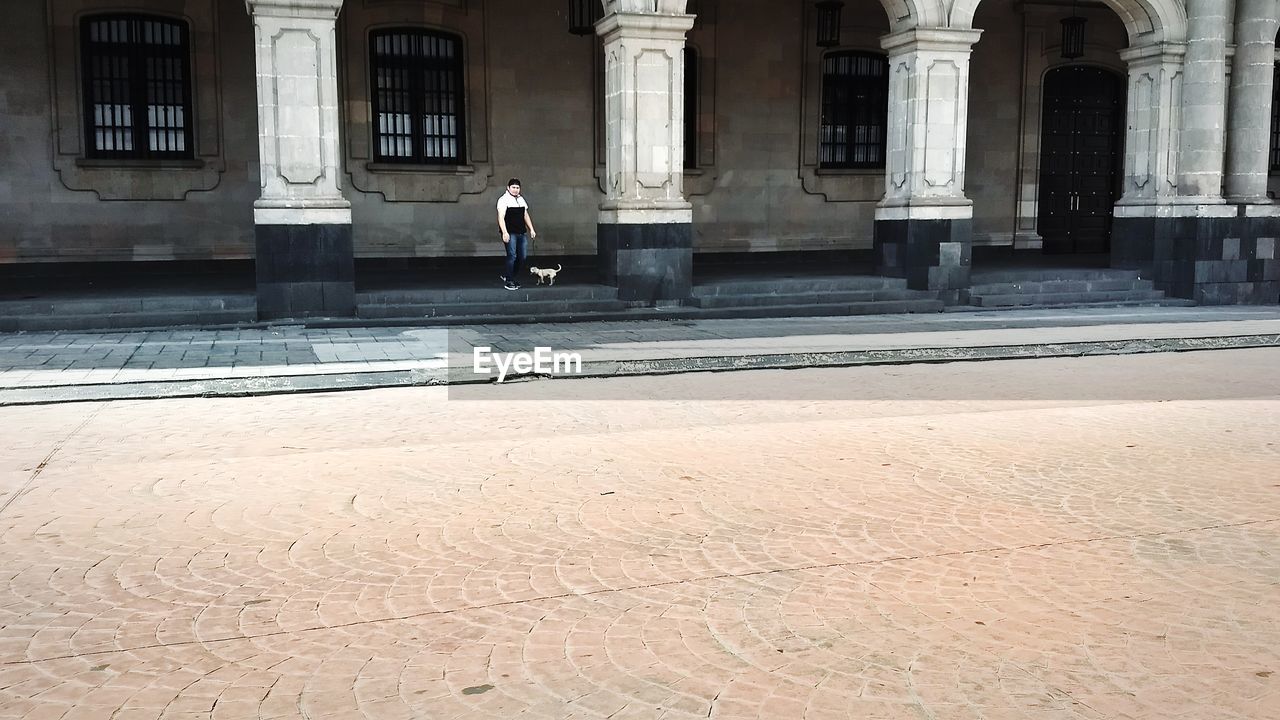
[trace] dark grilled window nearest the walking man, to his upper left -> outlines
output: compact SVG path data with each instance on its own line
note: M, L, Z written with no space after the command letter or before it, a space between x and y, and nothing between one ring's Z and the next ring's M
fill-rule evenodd
M420 28L379 31L370 55L378 160L465 163L462 40Z

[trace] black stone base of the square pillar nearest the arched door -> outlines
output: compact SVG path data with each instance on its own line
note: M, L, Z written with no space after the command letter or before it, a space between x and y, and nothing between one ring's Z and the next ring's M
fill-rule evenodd
M876 220L874 241L877 273L947 304L968 301L973 220Z

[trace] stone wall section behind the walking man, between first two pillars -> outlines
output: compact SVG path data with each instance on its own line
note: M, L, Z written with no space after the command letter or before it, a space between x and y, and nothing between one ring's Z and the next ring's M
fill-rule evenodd
M558 5L557 5L558 8ZM420 26L463 37L468 165L461 170L367 169L367 53L374 27ZM344 53L346 193L357 256L467 256L502 251L494 205L509 177L524 183L536 254L594 254L596 208L594 63L598 40L564 18L515 0L388 4L348 0ZM367 86L367 83L365 83Z

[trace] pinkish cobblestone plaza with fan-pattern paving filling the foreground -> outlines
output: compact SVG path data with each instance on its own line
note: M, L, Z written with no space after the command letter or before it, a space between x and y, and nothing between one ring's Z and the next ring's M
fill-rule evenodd
M1277 360L4 407L0 717L1277 717Z

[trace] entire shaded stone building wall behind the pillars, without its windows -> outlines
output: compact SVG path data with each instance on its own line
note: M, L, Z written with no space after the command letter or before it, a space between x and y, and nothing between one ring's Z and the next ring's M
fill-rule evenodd
M0 263L251 258L257 106L252 22L243 4L12 5L0 26L0 76L6 78L0 85ZM817 168L823 51L813 42L812 3L700 5L689 37L700 56L699 161L685 177L695 249L870 247L883 173ZM198 169L88 168L77 160L77 13L120 8L192 23ZM1091 19L1091 28L1101 31L1094 36L1100 51L1114 55L1108 44L1123 45L1123 28L1110 12L1094 13L1102 14ZM850 0L844 20L842 46L833 50L879 51L888 31L881 3ZM1056 18L1050 22L1056 28ZM370 165L364 38L371 27L394 24L463 37L467 168L403 173ZM1023 117L1027 28L1014 0L986 0L977 26L984 35L973 55L966 186L978 240L1007 242L1019 183L1034 177L1025 168L1025 137L1038 132ZM538 223L535 254L595 252L603 197L599 41L566 32L559 4L347 0L338 32L342 182L357 256L499 254L493 205L512 176L524 181Z

